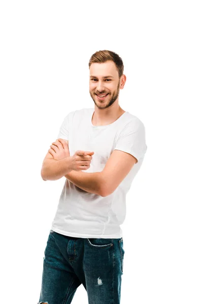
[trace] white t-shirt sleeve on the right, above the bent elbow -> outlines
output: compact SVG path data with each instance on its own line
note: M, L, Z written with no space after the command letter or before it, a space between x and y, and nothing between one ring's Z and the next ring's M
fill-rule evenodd
M140 120L130 121L120 132L114 149L129 153L138 161L144 157L147 150L144 124Z

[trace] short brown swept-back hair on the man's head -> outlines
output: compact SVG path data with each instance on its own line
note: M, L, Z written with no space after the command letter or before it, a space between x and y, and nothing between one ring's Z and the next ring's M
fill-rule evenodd
M112 60L115 63L118 70L118 77L120 79L123 74L123 68L124 68L123 61L118 56L118 54L112 51L104 50L104 51L97 51L96 53L94 53L89 60L89 68L92 63L103 63L108 60Z

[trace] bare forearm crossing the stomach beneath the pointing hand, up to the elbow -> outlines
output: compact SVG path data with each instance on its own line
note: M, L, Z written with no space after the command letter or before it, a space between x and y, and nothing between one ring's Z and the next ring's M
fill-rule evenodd
M103 185L102 172L71 171L65 177L84 191L101 195L101 185Z

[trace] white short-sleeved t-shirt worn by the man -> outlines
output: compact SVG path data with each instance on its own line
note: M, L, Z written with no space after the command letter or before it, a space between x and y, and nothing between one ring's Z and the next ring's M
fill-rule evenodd
M130 172L106 197L89 193L65 178L51 230L77 238L121 238L120 225L126 215L126 193L138 173L147 150L144 124L124 112L107 126L93 126L94 108L84 108L65 116L57 138L69 140L70 156L77 150L93 151L90 168L103 171L113 150L125 151L138 159Z

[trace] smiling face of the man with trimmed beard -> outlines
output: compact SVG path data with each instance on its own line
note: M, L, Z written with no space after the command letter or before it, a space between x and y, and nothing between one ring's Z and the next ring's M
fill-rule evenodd
M113 61L92 63L90 65L89 93L99 109L108 108L118 100L122 77L119 81L118 70ZM106 95L99 97L98 95Z

